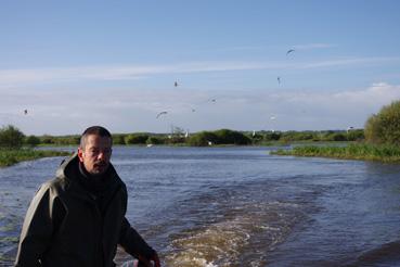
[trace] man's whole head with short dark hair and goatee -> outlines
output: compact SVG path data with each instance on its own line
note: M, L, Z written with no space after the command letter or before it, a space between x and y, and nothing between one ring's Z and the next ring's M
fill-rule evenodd
M107 129L92 126L80 137L79 161L91 175L102 175L109 166L113 139Z

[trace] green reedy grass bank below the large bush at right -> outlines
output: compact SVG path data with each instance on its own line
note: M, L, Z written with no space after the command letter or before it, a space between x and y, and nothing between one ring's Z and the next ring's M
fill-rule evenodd
M301 145L271 152L275 155L320 156L343 160L400 163L400 148L393 145L349 144L346 147Z

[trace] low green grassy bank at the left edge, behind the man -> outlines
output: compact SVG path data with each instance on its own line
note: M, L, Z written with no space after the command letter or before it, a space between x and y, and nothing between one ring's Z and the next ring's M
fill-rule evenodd
M41 150L0 150L0 167L7 167L24 161L33 161L49 156L70 155L64 151L41 151Z

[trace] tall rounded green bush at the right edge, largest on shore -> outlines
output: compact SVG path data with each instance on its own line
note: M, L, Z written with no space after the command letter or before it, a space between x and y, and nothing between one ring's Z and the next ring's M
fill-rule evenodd
M400 145L400 101L382 107L365 123L366 141L377 144Z

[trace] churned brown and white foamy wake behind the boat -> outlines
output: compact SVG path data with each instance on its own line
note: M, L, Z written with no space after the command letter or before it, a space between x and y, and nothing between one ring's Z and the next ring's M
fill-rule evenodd
M262 237L263 244L273 247L284 240L292 228L296 217L294 208L296 206L292 204L273 202L225 211L222 221L175 236L171 253L166 256L167 266L232 266L240 262L245 250L248 251L253 237ZM262 264L256 260L251 266Z

